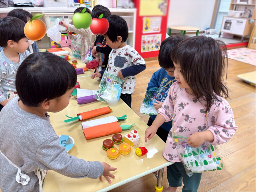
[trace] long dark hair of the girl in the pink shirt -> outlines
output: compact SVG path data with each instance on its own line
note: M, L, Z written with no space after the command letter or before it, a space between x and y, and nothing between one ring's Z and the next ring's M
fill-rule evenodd
M206 36L194 36L179 42L171 52L171 59L180 65L184 80L196 99L205 97L206 110L219 95L228 98L227 47L220 40ZM226 73L226 74L225 74ZM223 76L226 75L226 81Z

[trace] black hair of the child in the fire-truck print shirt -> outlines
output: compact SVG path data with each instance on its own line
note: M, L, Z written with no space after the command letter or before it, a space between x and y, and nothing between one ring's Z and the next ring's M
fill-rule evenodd
M122 42L128 38L128 26L123 17L118 15L110 15L108 18L109 29L105 34L112 42L117 41L117 36L122 37Z

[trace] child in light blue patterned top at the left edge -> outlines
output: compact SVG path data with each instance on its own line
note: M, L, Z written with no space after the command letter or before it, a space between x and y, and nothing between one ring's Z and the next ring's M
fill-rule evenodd
M0 102L2 107L17 96L15 76L22 61L30 55L28 38L24 34L25 23L16 17L0 20Z

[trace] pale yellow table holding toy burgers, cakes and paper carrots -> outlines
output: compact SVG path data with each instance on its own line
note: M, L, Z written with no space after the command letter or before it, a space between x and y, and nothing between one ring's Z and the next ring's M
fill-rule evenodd
M72 60L73 58L71 58L71 62ZM77 67L84 67L84 64L81 63L81 61L78 59L76 60L78 61ZM99 78L97 78L98 80L91 79L90 76L92 73L93 71L89 70L84 74L78 75L77 81L80 83L80 87L82 89L96 90L98 88L100 82ZM126 114L127 119L120 121L120 123L131 125L132 123L136 122L131 130L136 129L141 137L140 144L132 147L132 151L129 155L120 155L114 160L109 159L106 155L106 151L102 149L102 142L105 139L111 139L112 135L86 140L80 126L80 121L69 123L63 122L63 120L68 119L65 115L75 117L79 112L90 111L105 106L110 106L113 112L91 118L89 120L99 119L111 115L119 117ZM85 159L86 161L106 162L113 167L117 167L118 169L112 172L113 175L115 175L115 179L111 179L112 184L109 184L105 178L102 178L101 182L99 179L91 178L75 179L63 176L54 171L48 171L44 181L45 191L108 191L127 182L150 174L156 170L160 169L160 172L162 173L162 168L172 164L172 162L168 162L163 157L162 151L165 143L158 136L154 136L150 141L145 143L144 132L147 125L121 99L118 101L118 105L116 106L111 106L100 101L78 105L76 99L72 96L69 105L64 110L58 113L49 114L51 124L57 135L70 135L74 138L75 145L69 151L69 155ZM125 135L130 133L131 130L124 130L121 134ZM138 157L134 150L137 147L143 146L147 148L148 153ZM114 147L118 148L119 145L114 144ZM161 176L162 175L160 175L160 179L158 180L159 186L162 185Z

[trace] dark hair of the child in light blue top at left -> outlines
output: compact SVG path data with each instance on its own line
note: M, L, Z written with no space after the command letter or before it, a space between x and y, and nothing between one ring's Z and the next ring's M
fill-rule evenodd
M4 17L0 20L0 46L6 47L8 40L18 42L25 38L25 22L16 17Z

